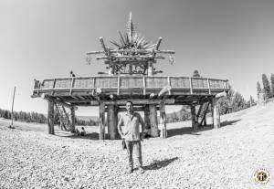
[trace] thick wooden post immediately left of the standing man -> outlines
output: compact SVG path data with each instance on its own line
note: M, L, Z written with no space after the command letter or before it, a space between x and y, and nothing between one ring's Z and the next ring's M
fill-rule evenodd
M117 107L114 105L108 106L108 133L111 139L116 139L118 128L117 128Z

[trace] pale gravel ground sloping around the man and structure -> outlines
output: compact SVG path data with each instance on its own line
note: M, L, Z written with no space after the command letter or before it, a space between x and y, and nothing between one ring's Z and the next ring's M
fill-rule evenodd
M0 120L0 188L274 188L273 178L253 178L259 168L274 175L274 104L222 121L196 132L168 124L173 136L142 142L145 172L128 174L120 140L48 135L27 123L11 130Z

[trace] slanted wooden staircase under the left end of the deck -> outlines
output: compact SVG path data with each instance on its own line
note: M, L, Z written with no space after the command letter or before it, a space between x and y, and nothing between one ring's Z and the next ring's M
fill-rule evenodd
M65 129L65 131L71 131L71 124L69 121L69 115L64 106L55 103L56 110L58 112L58 117L60 121L61 130Z

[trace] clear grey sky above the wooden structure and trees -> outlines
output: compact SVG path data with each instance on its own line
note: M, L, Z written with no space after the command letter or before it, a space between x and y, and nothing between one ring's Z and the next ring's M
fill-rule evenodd
M262 73L274 73L272 0L1 0L0 109L47 113L47 101L32 99L34 79L97 75L102 61L86 63L125 31L129 13L137 31L160 49L175 50L175 64L157 63L163 75L228 79L247 100L256 99ZM169 107L173 111L178 107ZM97 115L79 108L77 115Z

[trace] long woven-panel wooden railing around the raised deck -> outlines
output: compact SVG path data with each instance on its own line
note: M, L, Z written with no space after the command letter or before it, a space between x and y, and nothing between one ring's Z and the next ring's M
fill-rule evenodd
M44 79L36 80L34 90L43 93L47 90L89 90L111 89L121 90L142 89L143 94L148 89L163 89L165 86L171 89L188 89L192 94L195 89L206 89L209 94L215 89L228 89L228 81L224 79L187 78L174 76L96 76L67 79Z

